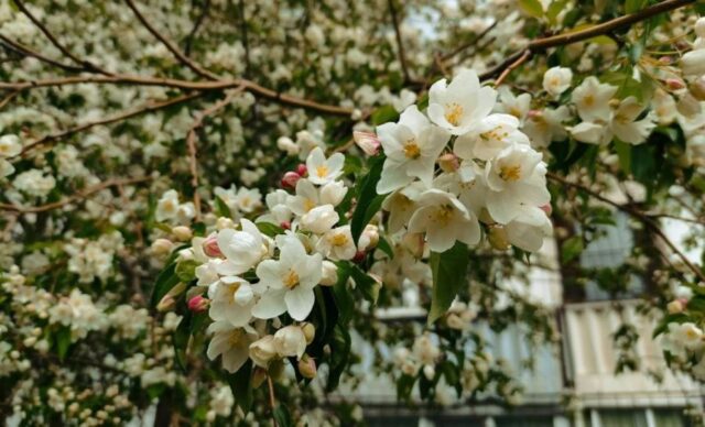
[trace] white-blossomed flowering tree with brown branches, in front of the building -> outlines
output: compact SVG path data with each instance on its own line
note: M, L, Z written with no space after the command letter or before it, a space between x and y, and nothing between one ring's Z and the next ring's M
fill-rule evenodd
M551 237L572 289L643 277L666 360L705 380L705 273L661 222L702 251L703 9L3 2L0 414L351 425L322 396L354 341L401 401L517 403L473 320L558 340L507 285ZM581 266L618 212L631 256ZM409 295L427 317L389 327Z

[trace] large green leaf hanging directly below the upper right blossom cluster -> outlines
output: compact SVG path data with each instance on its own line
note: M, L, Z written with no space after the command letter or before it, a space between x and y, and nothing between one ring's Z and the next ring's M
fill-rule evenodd
M445 252L431 252L430 264L433 272L433 292L429 325L446 314L453 299L467 283L469 263L467 244L459 241Z

